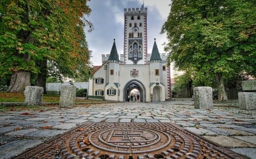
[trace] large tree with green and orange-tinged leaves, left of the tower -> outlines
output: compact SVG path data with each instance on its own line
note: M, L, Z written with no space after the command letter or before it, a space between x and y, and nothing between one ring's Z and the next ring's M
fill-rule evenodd
M84 27L92 24L86 0L3 0L0 2L0 76L11 75L10 92L23 92L31 74L45 84L47 61L75 76L90 53Z

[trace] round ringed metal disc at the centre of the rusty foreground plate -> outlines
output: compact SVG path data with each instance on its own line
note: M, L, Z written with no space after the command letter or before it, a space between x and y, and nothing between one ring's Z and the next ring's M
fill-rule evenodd
M95 148L125 154L157 151L171 143L171 137L165 132L143 127L104 128L88 138Z

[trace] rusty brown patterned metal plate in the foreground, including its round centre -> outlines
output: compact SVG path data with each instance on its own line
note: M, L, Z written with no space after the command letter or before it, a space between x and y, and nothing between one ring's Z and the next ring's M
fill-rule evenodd
M243 158L173 123L86 122L16 158Z

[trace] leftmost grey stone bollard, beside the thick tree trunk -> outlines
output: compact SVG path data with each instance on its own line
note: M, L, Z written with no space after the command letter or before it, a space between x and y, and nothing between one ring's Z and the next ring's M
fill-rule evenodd
M25 88L25 104L26 105L41 105L43 101L43 87L27 86Z

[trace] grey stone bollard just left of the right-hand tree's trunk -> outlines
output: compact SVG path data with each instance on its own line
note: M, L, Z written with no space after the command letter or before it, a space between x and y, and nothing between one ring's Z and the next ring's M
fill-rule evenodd
M197 109L213 109L212 87L195 87L194 105Z

